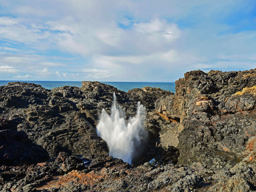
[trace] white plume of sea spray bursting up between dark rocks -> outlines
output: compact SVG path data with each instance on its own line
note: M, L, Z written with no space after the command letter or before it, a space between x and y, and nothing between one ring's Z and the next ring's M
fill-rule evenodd
M116 95L113 94L111 114L102 109L100 121L96 127L97 134L104 139L109 147L109 155L132 163L136 156L136 148L140 146L140 137L145 136L143 120L145 107L138 102L135 117L129 118L127 124L122 111L117 107Z

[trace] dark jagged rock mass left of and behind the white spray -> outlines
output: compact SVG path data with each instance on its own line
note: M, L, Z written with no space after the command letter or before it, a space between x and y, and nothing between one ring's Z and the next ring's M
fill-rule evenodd
M3 147L0 148L0 162L2 165L6 165L4 162L7 161L8 165L17 165L10 161L20 158L22 164L43 160L42 156L36 155L36 151L50 158L56 158L59 152L82 155L88 159L105 158L108 156L107 144L95 131L101 110L104 108L110 112L115 92L128 119L135 115L138 101L145 103L150 111L161 94L170 94L159 88L146 89L149 90L130 90L129 94L110 85L91 81L82 82L81 88L64 86L52 90L20 82L1 86L0 142ZM149 129L151 124L148 123ZM155 130L151 126L149 133L152 131ZM40 150L32 147L35 152L30 155L23 149L31 143ZM23 158L24 155L31 157L30 160L28 157Z

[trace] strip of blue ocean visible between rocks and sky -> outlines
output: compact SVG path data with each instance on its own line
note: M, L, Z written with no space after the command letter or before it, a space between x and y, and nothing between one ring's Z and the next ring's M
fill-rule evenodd
M8 82L15 82L15 81L0 81L0 86L7 85ZM19 81L19 82L39 84L42 87L49 90L51 90L54 87L63 87L64 85L82 87L82 81ZM168 83L168 82L105 82L105 81L102 81L101 83L114 86L117 89L125 92L134 88L142 88L147 86L158 87L158 88L161 88L162 90L175 92L175 83L173 82Z

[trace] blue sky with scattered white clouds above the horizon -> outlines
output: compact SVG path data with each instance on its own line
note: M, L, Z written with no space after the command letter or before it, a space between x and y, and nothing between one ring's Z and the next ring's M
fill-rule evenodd
M255 0L0 0L0 80L174 82L254 68Z

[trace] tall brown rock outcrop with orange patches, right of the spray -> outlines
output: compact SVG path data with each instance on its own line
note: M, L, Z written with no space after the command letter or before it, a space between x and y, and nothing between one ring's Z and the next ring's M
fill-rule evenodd
M191 71L175 84L176 95L161 97L156 110L181 119L180 165L201 162L217 170L250 156L246 146L256 135L256 69Z

